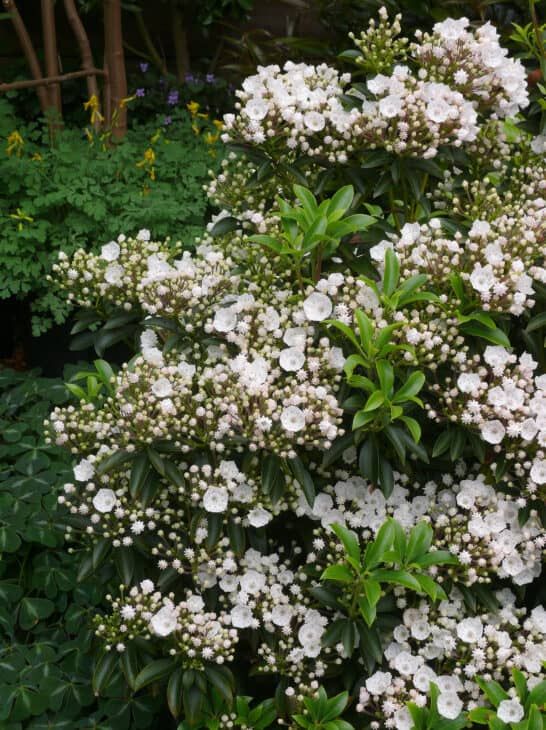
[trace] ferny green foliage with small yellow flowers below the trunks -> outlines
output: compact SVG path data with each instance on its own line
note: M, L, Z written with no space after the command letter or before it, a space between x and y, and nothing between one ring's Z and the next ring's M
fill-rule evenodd
M79 129L58 132L50 145L43 127L21 126L2 105L0 138L0 297L32 301L35 334L66 316L45 283L59 251L97 247L143 227L191 244L202 229L202 184L214 150L185 110L168 127L162 119L137 125L112 146Z

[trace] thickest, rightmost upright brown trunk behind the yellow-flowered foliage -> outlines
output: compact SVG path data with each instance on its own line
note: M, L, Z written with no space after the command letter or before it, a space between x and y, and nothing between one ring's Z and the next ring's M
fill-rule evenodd
M127 131L127 77L123 55L121 1L104 0L104 55L110 83L112 134L123 137Z

